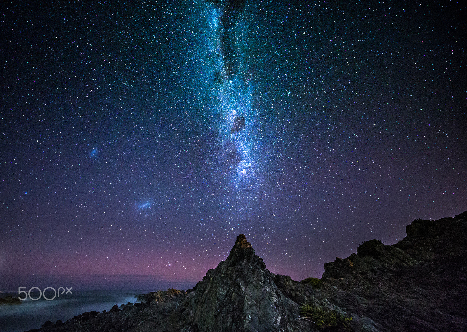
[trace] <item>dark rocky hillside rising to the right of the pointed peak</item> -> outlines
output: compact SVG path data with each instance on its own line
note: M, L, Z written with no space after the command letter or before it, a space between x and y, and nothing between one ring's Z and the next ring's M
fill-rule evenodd
M326 263L320 297L378 331L467 331L467 211L415 220L406 232Z

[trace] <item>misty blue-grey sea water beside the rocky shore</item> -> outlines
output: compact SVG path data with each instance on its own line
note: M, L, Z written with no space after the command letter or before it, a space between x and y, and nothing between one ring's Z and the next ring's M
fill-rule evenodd
M23 332L40 328L47 320L55 323L58 319L65 321L86 311L109 311L114 304L135 303L135 295L154 290L71 291L72 294L62 294L51 301L43 297L37 301L28 298L20 305L0 306L0 332ZM18 293L0 293L0 297L7 295L17 297ZM39 292L31 291L31 297L39 297ZM53 292L47 297L53 297Z

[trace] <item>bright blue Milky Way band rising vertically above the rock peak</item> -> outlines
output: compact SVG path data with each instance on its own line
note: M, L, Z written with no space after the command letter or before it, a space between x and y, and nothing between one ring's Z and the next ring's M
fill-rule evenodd
M233 190L254 190L258 149L255 125L255 80L248 65L248 38L244 1L213 2L208 34L212 34L214 69L213 117L219 121L222 157L229 169ZM239 188L240 187L240 188Z

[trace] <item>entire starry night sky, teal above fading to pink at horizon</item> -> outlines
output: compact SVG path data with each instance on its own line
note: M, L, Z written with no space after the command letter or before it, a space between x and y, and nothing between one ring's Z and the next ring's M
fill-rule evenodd
M0 8L0 288L194 285L240 233L271 272L320 277L467 210L455 1Z

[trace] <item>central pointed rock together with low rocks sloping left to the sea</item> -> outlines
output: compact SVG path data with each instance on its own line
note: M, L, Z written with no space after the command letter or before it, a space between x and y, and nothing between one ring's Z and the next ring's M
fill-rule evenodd
M40 330L304 332L314 331L316 325L300 317L300 303L319 304L311 287L270 273L242 234L227 259L207 271L192 290L151 292L138 300L143 302L122 310L114 305L109 312L85 312L65 323L46 322ZM325 301L326 308L330 305Z

